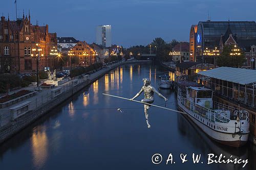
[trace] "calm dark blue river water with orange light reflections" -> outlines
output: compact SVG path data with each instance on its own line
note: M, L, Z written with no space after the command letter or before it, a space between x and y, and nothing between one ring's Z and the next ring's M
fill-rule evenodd
M132 98L142 78L150 78L157 88L162 74L174 78L154 64L114 69L3 143L0 169L256 169L256 149L250 143L239 149L226 147L210 140L183 115L154 107L149 110L148 129L141 104L102 95ZM160 92L168 99L166 107L177 109L175 92ZM138 99L142 98L143 94ZM154 104L165 102L155 94ZM162 156L160 164L152 163L156 153ZM173 162L166 165L170 153ZM187 154L184 163L181 153ZM199 163L193 163L193 153L201 154ZM207 164L211 153L249 163L244 168L243 163Z

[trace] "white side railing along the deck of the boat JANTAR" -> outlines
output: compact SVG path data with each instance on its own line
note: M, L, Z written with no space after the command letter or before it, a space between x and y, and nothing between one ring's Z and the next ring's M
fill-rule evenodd
M225 115L215 110L211 110L209 108L197 105L194 102L191 102L185 99L183 96L180 96L180 99L181 99L180 101L181 104L184 105L187 109L193 111L193 113L203 116L204 118L208 119L212 123L215 123L215 122L228 123L230 121L230 118L226 117Z

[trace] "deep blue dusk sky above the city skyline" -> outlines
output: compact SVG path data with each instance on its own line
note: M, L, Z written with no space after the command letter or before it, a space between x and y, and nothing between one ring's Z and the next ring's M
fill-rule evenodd
M14 0L2 0L1 12L15 19ZM112 26L112 44L146 45L155 37L165 41L189 40L198 21L256 20L256 1L238 0L17 0L18 16L30 10L33 25L48 24L58 37L92 43L98 25Z

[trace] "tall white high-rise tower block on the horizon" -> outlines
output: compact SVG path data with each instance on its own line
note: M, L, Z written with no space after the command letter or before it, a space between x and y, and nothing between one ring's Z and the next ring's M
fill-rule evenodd
M111 26L96 27L96 43L104 47L111 46Z

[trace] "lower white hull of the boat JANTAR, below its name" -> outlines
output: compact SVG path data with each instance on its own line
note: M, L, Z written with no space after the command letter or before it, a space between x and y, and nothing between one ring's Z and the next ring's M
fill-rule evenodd
M180 110L187 113L186 116L188 117L188 119L194 124L196 124L211 139L214 139L215 141L228 145L230 147L236 147L236 148L241 147L247 142L248 135L249 135L248 133L234 135L232 133L224 133L224 132L213 130L210 127L203 124L202 122L200 122L201 120L200 118L197 119L196 117L190 115L188 113L189 110L183 107L183 105L179 104L179 102L178 102L178 105Z

